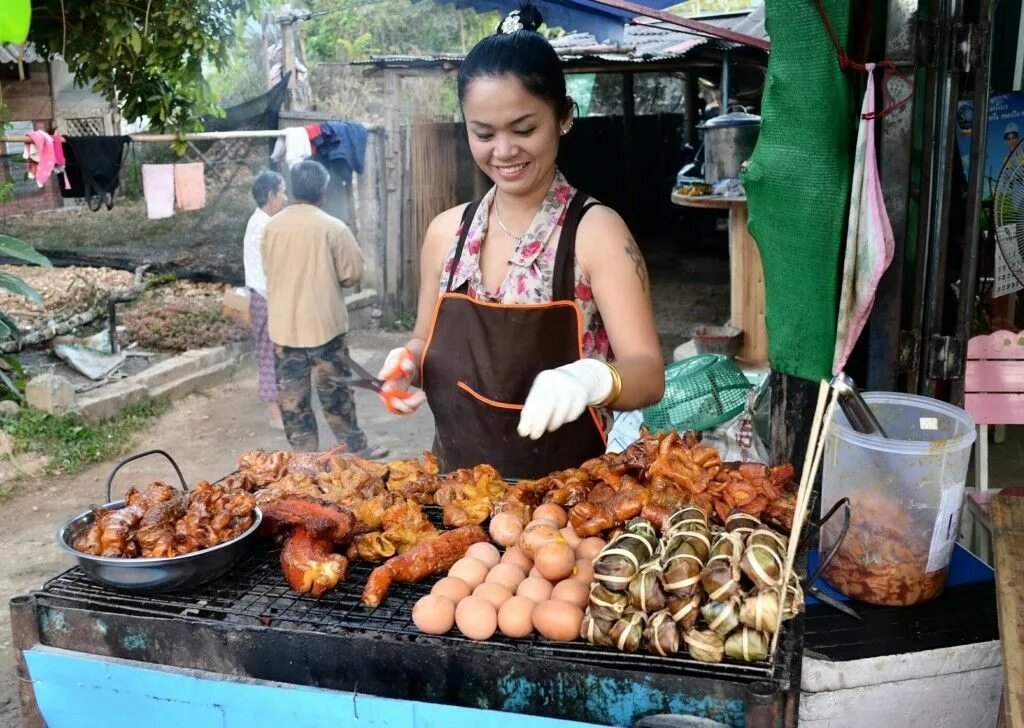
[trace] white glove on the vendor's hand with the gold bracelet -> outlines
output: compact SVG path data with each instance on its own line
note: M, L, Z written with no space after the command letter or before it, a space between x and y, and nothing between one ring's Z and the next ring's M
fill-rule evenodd
M608 366L597 359L580 359L541 372L519 416L519 435L536 440L545 432L554 432L588 406L607 399L613 386Z

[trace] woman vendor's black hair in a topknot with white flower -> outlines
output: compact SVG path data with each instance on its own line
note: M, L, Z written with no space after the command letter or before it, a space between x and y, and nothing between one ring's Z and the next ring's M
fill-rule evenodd
M565 93L565 75L558 53L537 32L544 23L541 12L526 4L513 10L498 26L495 35L473 46L459 67L459 102L478 78L513 76L535 96L543 98L560 120L571 106Z

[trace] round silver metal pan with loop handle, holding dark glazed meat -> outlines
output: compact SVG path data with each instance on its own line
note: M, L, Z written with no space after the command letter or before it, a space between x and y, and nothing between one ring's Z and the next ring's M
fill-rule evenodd
M124 501L111 502L111 483L114 475L127 463L147 455L162 455L170 460L181 481L181 489L187 490L181 470L171 456L160 449L147 451L123 460L114 468L106 479L109 503L104 504L103 508L124 507ZM75 550L72 546L75 539L84 529L89 528L94 520L92 511L89 510L79 513L57 529L57 545L78 560L78 565L86 575L105 587L126 592L170 592L198 587L231 568L245 555L253 537L259 530L263 514L257 508L253 516L253 524L246 532L219 546L181 556L131 559L92 556Z

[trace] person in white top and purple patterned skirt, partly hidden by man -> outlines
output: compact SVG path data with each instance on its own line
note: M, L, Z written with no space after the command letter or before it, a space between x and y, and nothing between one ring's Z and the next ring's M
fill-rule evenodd
M273 372L273 344L266 326L266 273L260 247L263 232L270 217L281 212L288 201L285 178L269 170L260 172L253 182L256 210L246 224L243 243L243 263L246 269L246 288L249 289L249 326L256 346L256 369L259 373L259 397L270 405L270 427L284 429L281 408L278 405L278 382Z

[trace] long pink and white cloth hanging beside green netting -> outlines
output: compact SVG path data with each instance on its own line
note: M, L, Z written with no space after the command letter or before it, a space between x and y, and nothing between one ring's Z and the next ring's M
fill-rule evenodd
M850 358L874 305L879 281L893 259L893 228L882 198L879 161L874 148L874 65L867 65L867 89L860 114L850 219L846 233L846 263L839 302L839 327L833 374L839 374Z

